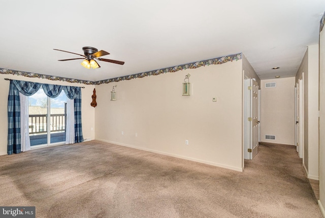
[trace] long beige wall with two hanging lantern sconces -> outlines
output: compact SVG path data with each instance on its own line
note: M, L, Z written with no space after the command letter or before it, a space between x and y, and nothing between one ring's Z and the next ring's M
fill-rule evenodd
M95 139L242 171L242 78L238 60L97 85Z

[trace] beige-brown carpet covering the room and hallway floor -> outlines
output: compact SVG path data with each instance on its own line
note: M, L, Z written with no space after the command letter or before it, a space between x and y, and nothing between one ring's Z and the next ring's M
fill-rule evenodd
M89 141L0 157L0 205L36 217L322 217L294 146L237 172Z

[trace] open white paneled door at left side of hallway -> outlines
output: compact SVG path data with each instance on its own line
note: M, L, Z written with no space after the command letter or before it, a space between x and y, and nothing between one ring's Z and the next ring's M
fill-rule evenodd
M251 159L255 157L258 149L258 83L251 80Z

